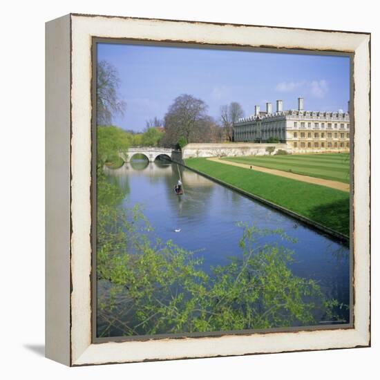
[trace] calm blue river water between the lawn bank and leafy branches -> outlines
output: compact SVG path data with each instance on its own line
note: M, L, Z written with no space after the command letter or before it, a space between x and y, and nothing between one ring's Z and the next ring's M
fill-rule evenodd
M173 191L180 171L184 195ZM161 240L172 240L204 258L204 269L225 265L241 255L238 240L246 222L259 229L283 229L296 243L265 236L263 243L281 243L294 250L292 272L318 281L329 298L350 303L349 249L298 220L231 191L202 175L167 161L133 160L120 169L106 169L108 179L122 187L123 207L136 203ZM281 189L278 189L281 191ZM175 232L175 230L180 230ZM346 321L348 321L347 312Z

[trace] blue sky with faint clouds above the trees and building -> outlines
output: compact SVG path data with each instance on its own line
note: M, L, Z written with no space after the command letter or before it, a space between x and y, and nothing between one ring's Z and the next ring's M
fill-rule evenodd
M265 102L272 102L275 110L276 99L284 110L297 108L298 96L310 111L346 111L350 97L348 57L98 44L97 59L113 64L121 79L126 112L113 124L134 131L155 116L163 119L184 93L204 100L216 120L230 102L249 116L256 104L265 111Z

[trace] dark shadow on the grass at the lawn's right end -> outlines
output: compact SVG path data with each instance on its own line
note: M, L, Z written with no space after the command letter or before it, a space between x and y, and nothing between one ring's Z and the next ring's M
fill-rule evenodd
M340 232L350 235L350 200L341 199L310 209L310 218Z

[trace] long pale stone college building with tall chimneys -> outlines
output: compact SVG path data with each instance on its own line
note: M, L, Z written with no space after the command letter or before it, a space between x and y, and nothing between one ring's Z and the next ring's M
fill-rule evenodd
M350 150L348 111L304 111L303 97L298 97L297 110L283 111L282 100L276 101L276 112L272 111L272 103L267 103L266 108L263 112L255 106L254 115L234 124L234 141L283 142L292 153Z

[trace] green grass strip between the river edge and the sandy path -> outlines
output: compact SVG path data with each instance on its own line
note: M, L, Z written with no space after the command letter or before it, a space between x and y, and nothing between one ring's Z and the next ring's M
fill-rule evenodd
M185 160L188 167L320 223L341 234L350 231L350 194L278 175L233 167L205 158Z

